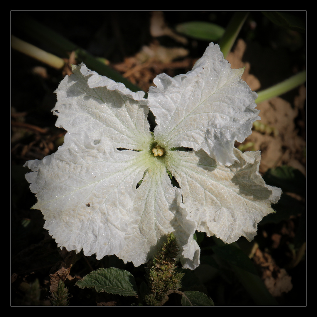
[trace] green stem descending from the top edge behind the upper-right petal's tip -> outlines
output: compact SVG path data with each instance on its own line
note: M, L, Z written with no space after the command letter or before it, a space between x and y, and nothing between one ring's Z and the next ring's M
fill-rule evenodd
M223 37L219 42L219 46L224 58L226 58L230 52L248 14L249 12L239 11L232 16L231 21L229 22Z

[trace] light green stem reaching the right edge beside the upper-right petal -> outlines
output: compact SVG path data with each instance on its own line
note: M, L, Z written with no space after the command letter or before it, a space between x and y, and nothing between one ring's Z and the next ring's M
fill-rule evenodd
M271 99L273 97L280 96L281 94L285 94L288 91L300 86L306 81L306 70L288 78L285 81L280 82L268 89L264 89L258 92L258 97L256 98L255 102L260 103L264 100Z

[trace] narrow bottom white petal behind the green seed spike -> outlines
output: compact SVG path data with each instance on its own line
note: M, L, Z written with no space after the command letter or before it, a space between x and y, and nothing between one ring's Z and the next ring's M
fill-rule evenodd
M167 234L173 232L180 248L179 256L183 250L187 251L181 256L182 263L191 269L199 265L200 249L196 241L193 242L196 227L186 220L186 210L178 206L179 197L180 191L171 185L165 166L151 165L137 189L134 219L126 233L126 247L118 254L121 259L131 261L135 266L147 262Z

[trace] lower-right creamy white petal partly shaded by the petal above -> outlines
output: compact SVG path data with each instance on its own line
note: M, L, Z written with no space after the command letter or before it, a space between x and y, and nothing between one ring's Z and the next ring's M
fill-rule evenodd
M242 153L230 167L217 165L203 150L173 152L167 168L178 180L188 219L197 230L226 243L240 236L251 241L257 224L277 203L281 189L265 184L258 172L260 152Z

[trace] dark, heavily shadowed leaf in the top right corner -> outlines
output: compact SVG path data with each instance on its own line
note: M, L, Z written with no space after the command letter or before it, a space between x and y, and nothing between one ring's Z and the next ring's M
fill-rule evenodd
M305 22L297 16L286 12L262 12L273 23L293 31L305 32Z

